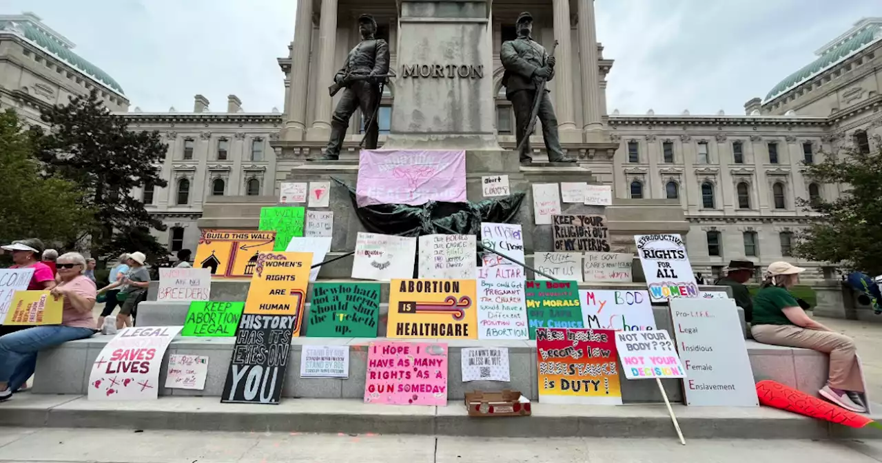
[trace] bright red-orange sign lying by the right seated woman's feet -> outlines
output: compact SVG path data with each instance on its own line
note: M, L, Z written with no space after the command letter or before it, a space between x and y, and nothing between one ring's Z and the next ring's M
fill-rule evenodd
M863 428L867 425L880 427L877 422L863 416L863 414L850 412L826 400L820 400L805 392L796 391L792 387L782 385L771 379L757 383L757 396L759 397L759 403L766 407L781 408L781 410L811 416L812 418L852 428Z

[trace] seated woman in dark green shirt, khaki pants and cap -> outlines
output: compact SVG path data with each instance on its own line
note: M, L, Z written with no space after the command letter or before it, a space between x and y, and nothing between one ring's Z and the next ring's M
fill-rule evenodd
M863 392L863 380L857 366L855 341L811 319L789 293L803 272L804 268L787 262L769 265L766 281L753 297L753 339L829 354L830 377L818 393L842 408L864 413L866 408L859 395Z

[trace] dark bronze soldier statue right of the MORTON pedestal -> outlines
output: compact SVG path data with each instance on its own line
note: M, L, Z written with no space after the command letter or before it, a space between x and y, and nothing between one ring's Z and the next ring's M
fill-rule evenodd
M539 122L542 123L542 137L545 138L549 161L575 162L576 160L565 156L560 148L557 117L551 105L549 90L546 88L541 95L536 94L542 80L548 81L554 78L555 58L549 56L545 48L530 37L533 32L533 15L528 12L520 13L516 27L518 38L502 44L499 58L505 67L502 82L505 86L505 98L512 101L514 119L518 127L516 134L518 143L527 137L520 150L520 161L522 163L533 161L529 155L530 134L527 133L527 126L533 115L534 99L540 98L538 116Z

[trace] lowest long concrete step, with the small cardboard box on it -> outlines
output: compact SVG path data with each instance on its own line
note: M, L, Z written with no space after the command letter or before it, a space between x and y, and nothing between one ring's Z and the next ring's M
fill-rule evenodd
M879 438L777 409L685 407L674 413L686 439ZM84 396L16 394L0 404L0 426L410 434L468 437L663 437L676 439L664 405L620 407L532 404L528 417L473 418L447 407L384 406L361 400L283 400L277 406L221 404L217 398L90 401ZM878 410L879 407L877 406Z

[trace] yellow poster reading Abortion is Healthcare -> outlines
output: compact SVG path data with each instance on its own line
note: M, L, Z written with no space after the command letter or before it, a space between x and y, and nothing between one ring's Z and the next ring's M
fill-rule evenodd
M392 280L387 338L478 339L475 280Z

